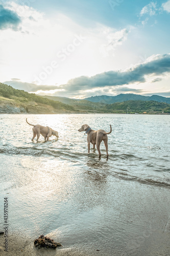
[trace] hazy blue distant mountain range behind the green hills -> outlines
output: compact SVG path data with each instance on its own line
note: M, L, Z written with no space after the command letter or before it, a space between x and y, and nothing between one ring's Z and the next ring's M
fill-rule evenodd
M158 96L158 95L152 95L152 96L142 96L138 94L128 93L128 94L119 94L117 96L107 96L107 95L101 95L101 96L92 96L89 98L85 98L84 100L88 100L91 102L100 102L105 104L112 104L115 102L124 102L128 100L143 100L143 101L158 101L158 102L164 102L170 104L170 98Z

